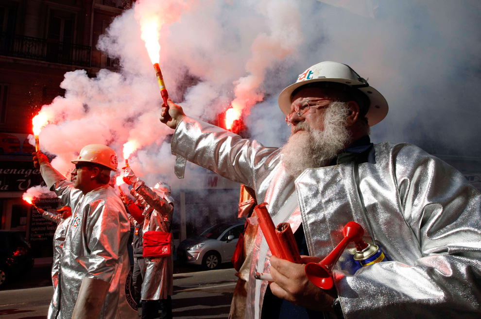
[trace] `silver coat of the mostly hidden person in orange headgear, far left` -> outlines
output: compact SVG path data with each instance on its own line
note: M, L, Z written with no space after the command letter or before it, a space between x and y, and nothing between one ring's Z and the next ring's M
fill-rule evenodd
M49 213L51 214L51 213ZM53 214L52 214L53 215ZM45 216L45 213L44 213ZM52 260L52 284L53 284L53 297L50 302L49 313L47 318L55 318L54 315L58 311L58 271L60 267L60 256L62 255L62 248L65 242L65 235L67 234L67 228L72 216L63 219L61 216L52 216L59 224L53 235L53 260Z

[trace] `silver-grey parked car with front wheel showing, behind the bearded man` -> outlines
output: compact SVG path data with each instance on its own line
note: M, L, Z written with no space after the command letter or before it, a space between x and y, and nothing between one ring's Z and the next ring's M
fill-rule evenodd
M177 248L177 258L206 269L217 269L221 263L230 262L244 223L220 223L208 228L199 236L183 240Z

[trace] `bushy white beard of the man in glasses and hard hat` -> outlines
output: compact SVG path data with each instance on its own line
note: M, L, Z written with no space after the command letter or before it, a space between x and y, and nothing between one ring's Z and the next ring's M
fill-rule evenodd
M323 131L311 129L305 121L299 122L281 149L287 172L296 178L306 168L329 165L351 139L345 126L348 114L347 103L333 102L326 109Z

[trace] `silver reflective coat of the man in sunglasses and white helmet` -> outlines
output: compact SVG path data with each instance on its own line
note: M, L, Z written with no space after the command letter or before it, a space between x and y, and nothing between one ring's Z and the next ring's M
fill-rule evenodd
M110 283L98 318L134 318L137 312L125 297L130 224L120 198L109 185L84 195L49 163L42 163L40 172L47 186L72 208L58 272L59 311L53 318L72 317L84 277Z

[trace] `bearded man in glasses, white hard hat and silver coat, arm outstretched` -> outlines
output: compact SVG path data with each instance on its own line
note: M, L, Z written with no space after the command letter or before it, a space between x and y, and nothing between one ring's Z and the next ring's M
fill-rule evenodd
M161 111L175 129L172 153L253 188L275 225L291 224L304 255L303 264L271 256L258 230L245 318L479 318L479 191L413 145L372 144L369 126L386 116L387 102L349 66L309 67L279 106L292 133L281 149L188 118L172 101ZM389 261L357 269L348 246L335 286L320 289L304 264L331 252L349 221ZM254 280L256 271L273 282Z

